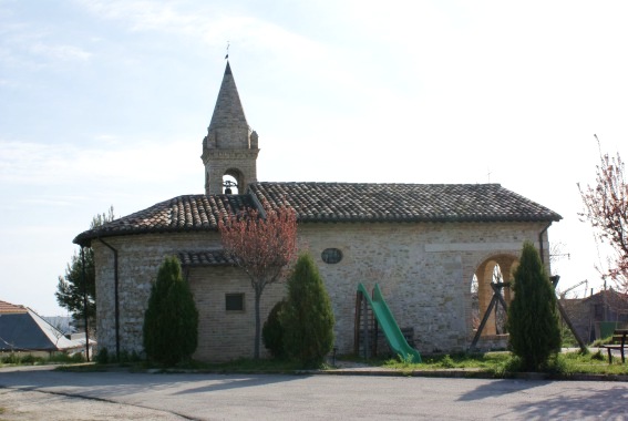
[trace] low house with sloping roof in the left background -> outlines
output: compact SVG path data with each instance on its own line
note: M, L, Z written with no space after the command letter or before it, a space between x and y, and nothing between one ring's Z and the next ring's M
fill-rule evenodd
M84 339L69 339L30 308L0 301L0 355L21 352L49 357L84 350Z

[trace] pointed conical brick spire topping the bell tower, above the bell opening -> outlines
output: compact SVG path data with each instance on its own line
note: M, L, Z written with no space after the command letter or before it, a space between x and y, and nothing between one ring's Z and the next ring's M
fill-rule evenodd
M215 140L213 146L217 148L248 148L249 133L231 66L227 61L207 137ZM210 144L207 146L212 147Z

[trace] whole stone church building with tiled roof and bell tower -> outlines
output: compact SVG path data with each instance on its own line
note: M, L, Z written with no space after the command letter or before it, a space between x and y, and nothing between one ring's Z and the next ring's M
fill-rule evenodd
M254 291L223 255L217 222L282 201L297 212L299 244L315 257L330 295L339 353L353 350L360 283L380 284L419 351L455 352L475 336L474 279L482 315L495 268L508 280L524 240L548 266L547 228L560 216L498 184L267 183L257 179L258 154L227 62L203 140L205 193L166 199L74 238L95 253L99 347L142 352L151 285L164 258L175 255L199 311L194 357L251 357ZM262 320L284 295L282 283L267 287ZM486 326L477 347L505 346L495 321Z

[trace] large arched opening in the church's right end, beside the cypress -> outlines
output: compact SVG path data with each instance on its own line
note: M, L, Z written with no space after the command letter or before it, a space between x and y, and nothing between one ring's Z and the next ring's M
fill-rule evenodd
M515 256L498 255L486 258L473 274L471 283L471 326L474 332L481 326L484 317L486 322L482 329L481 336L505 335L506 329L506 310L501 304L494 304L491 312L487 309L491 306L495 289L492 284L500 285L512 280L512 273L518 261ZM511 288L497 288L502 298L507 304L511 302Z

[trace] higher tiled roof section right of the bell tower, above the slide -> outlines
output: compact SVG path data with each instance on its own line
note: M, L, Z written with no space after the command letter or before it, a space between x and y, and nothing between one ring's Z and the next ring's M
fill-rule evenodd
M261 204L281 203L300 222L559 220L498 184L256 183Z

